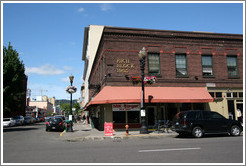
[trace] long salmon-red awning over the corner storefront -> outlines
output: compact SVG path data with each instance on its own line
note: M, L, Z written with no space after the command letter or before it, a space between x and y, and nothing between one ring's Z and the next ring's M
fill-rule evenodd
M93 104L140 103L141 87L104 87L87 106ZM206 87L145 87L146 103L213 102Z

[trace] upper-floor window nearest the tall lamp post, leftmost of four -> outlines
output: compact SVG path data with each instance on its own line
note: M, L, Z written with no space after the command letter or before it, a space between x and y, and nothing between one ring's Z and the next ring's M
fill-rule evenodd
M160 54L159 53L148 53L148 64L150 75L160 75Z

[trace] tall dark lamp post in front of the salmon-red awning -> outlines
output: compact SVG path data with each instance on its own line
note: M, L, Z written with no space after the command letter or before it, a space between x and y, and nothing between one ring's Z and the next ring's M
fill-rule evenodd
M144 94L144 69L145 69L145 58L146 58L145 47L139 51L138 57L140 62L141 77L142 77L142 99L141 99L141 128L140 134L148 134L148 128L146 126L146 114L145 114L145 94Z

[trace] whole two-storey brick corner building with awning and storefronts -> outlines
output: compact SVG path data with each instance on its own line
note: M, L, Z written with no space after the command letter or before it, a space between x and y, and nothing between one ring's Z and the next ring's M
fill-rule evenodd
M141 127L138 52L147 50L148 127L179 111L206 109L237 119L243 111L243 35L90 25L85 28L84 109L97 120Z

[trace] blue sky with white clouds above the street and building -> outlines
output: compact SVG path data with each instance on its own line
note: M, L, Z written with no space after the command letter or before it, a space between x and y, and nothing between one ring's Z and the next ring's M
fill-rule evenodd
M7 2L7 1L6 1ZM243 34L243 3L3 3L2 41L19 53L31 98L81 97L84 28L89 25Z

